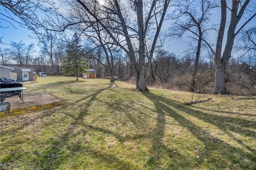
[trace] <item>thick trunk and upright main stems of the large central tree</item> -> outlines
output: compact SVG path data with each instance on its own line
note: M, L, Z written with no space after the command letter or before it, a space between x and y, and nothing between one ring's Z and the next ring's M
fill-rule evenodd
M108 33L108 35L110 36L110 38L112 38L112 40L114 40L114 42L116 43L116 45L118 45L119 47L121 47L129 56L133 66L134 66L134 75L135 75L135 79L136 79L136 87L138 90L140 91L146 91L148 90L147 88L147 75L148 75L148 71L150 70L150 64L151 64L151 60L152 60L152 56L154 53L154 49L156 46L156 41L158 39L158 35L162 26L162 22L164 20L164 16L166 14L166 10L168 8L168 5L170 3L170 0L166 0L164 1L164 5L163 5L163 10L159 10L159 8L155 8L156 6L156 2L157 1L153 1L150 7L150 10L147 11L147 14L143 14L143 2L142 0L138 0L138 1L134 1L134 5L136 6L136 15L137 15L137 24L138 24L138 32L132 32L131 34L133 34L132 37L134 37L135 34L138 33L138 59L135 56L135 50L137 50L137 47L134 47L134 42L132 42L131 40L131 36L128 32L128 28L129 26L126 25L126 20L124 19L123 15L122 15L122 11L120 9L119 3L120 1L118 0L114 0L114 4L115 4L115 8L114 10L106 8L107 10L109 10L109 12L114 12L114 15L118 16L119 20L118 23L120 23L121 27L122 27L122 32L123 32L123 36L126 40L126 44L124 47L124 45L121 44L121 42L119 40L117 40L112 32L108 29L108 26L106 26L100 18L98 18L98 16L92 12L87 6L86 4L84 4L81 0L77 0L77 2L79 4L81 4L83 6L83 8L88 12L88 14L90 14L95 20L96 22L98 22L102 28ZM146 3L146 2L144 2ZM147 4L148 5L148 4ZM146 49L146 35L148 30L151 30L151 26L150 26L150 22L152 18L157 18L158 14L160 14L162 12L162 16L160 21L156 21L156 34L154 36L154 40L152 42L152 46L150 49L150 55L146 56L145 53L145 49ZM110 15L111 16L111 15ZM144 18L146 19L146 22L144 23ZM115 19L114 19L115 20ZM151 23L152 24L152 23ZM116 29L116 28L115 28ZM129 28L129 30L132 30ZM135 33L135 34L134 34ZM122 40L123 41L123 40ZM145 59L147 57L147 60Z

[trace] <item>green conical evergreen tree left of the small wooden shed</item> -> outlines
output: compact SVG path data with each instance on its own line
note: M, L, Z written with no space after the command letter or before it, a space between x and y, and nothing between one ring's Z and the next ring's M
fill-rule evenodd
M81 46L82 45L79 44L79 37L75 33L73 41L68 45L66 50L67 55L62 63L63 73L67 75L75 75L76 80L78 80L78 75L80 73L86 73L86 69L88 69Z

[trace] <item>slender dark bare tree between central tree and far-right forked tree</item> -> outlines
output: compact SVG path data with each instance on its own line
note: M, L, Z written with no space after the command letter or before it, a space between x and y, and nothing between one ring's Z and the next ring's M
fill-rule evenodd
M212 50L211 45L206 41L209 31L214 29L214 25L210 25L212 18L212 10L216 8L214 1L196 0L196 1L179 1L176 4L174 15L174 27L171 28L170 36L181 37L189 34L188 38L196 42L194 69L190 81L190 91L194 91L196 73L198 71L198 63L203 43ZM190 36L191 35L191 36ZM212 50L213 51L213 50Z

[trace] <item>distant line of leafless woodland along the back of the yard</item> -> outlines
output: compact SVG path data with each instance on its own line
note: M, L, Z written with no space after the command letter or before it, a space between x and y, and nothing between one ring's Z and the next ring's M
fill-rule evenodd
M10 49L1 49L1 65L31 67L36 69L36 73L46 71L48 75L64 75L62 71L62 60L66 55L64 49L54 50L51 59L43 49L41 49L39 56L35 57L33 52L30 55L25 55L28 53L28 46L17 44L16 46L24 47L24 49L19 50L24 51L24 54L15 53L13 46ZM108 68L104 67L106 61L102 49L95 49L89 53L85 52L85 54L84 60L90 69L96 70L97 78L110 76ZM212 93L215 74L213 57L204 56L201 58L194 89L198 93ZM116 54L113 63L113 73L116 79L135 84L133 65L124 53ZM148 85L156 88L189 91L193 69L193 58L186 55L177 56L169 51L159 50L152 59L147 79ZM256 63L254 60L248 61L248 58L242 57L231 59L225 73L225 87L231 94L256 95Z

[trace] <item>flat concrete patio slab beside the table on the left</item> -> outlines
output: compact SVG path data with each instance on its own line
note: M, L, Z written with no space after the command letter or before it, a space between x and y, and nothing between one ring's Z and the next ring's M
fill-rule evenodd
M19 96L7 97L5 99L5 101L10 101L10 110L60 102L60 100L44 91L23 93L23 100L25 103L22 102Z

